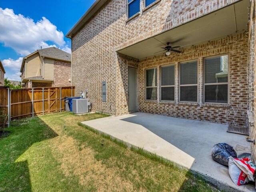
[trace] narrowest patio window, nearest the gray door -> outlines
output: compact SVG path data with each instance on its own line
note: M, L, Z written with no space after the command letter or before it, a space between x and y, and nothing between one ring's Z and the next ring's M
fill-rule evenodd
M156 100L157 98L157 69L146 70L146 100Z

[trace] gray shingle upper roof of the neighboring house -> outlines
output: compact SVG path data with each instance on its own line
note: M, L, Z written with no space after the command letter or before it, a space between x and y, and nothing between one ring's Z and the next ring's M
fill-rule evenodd
M40 56L49 57L59 60L65 60L71 62L71 54L64 52L56 47L49 47L45 49L39 49Z

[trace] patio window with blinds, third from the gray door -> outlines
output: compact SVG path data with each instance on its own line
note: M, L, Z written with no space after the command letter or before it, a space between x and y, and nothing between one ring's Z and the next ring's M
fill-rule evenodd
M180 63L180 101L197 102L197 61Z

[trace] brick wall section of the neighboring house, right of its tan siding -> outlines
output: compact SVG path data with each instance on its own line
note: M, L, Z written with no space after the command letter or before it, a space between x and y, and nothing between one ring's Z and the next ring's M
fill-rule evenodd
M53 87L71 86L71 63L54 60Z

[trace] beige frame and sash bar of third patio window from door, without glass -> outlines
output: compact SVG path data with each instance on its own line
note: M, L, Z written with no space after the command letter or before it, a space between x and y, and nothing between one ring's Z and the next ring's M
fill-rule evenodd
M181 85L180 84L180 64L183 64L183 63L188 63L188 62L193 62L193 61L196 61L197 62L197 84L186 84L186 85ZM199 77L199 68L198 68L198 65L199 65L199 59L197 58L197 59L192 59L192 60L186 60L186 61L182 61L182 62L179 62L178 63L178 65L179 65L179 76L178 76L178 78L179 78L179 84L178 84L178 86L179 86L179 102L181 102L181 103L198 103L198 101L199 101L199 81L198 81L198 77ZM181 86L197 86L197 100L196 101L181 101L180 100L180 87Z

